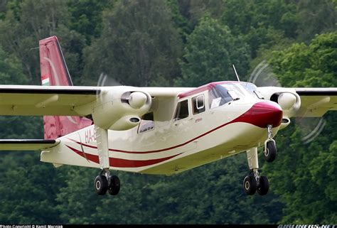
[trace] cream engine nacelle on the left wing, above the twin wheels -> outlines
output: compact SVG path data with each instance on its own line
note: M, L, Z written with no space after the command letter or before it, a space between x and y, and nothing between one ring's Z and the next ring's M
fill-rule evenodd
M107 87L92 108L92 119L102 129L124 131L137 126L149 112L151 96L134 87Z

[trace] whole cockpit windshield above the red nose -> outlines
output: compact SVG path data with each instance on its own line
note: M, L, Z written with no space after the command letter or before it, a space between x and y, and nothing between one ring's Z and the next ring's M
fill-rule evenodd
M210 109L227 104L242 97L263 99L257 87L250 82L233 82L215 85L208 91Z

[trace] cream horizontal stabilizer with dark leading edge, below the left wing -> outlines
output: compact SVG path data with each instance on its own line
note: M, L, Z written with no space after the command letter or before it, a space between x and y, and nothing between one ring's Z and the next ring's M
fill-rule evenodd
M58 140L1 139L0 151L38 151L58 145Z

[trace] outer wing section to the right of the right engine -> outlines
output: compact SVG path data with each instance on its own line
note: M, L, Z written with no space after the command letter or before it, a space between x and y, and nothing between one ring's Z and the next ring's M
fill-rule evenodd
M301 97L301 107L296 116L320 117L337 110L337 88L294 88Z

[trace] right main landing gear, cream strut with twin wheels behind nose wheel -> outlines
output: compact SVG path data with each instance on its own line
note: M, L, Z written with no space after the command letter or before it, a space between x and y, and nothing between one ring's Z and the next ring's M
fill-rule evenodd
M247 161L252 172L243 180L243 190L247 195L254 195L255 192L260 195L266 195L269 190L269 181L266 176L260 175L258 171L259 161L256 147L247 151Z

